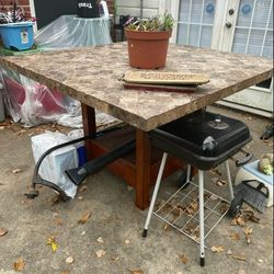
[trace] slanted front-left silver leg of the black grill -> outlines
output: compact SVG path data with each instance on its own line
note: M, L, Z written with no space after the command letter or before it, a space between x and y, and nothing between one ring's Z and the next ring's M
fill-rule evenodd
M156 202L157 194L158 194L160 183L161 183L161 180L162 180L162 173L163 173L163 169L164 169L164 165L165 165L167 158L168 158L168 153L163 152L162 160L161 160L161 165L160 165L160 169L159 169L159 172L158 172L158 175L157 175L157 180L156 180L156 185L155 185L155 191L153 191L153 194L152 194L152 199L151 199L150 205L149 205L148 216L147 216L145 228L144 228L144 231L142 231L142 237L144 238L147 237L147 233L148 233L148 226L149 226L149 222L150 222L150 219L151 219L151 216L152 216L152 210L153 210L153 207L155 207L155 202Z

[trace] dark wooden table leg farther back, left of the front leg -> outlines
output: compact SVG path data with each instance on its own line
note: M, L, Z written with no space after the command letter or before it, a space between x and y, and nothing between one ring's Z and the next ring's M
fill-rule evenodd
M84 136L95 136L96 134L96 119L95 119L95 110L87 104L81 104L82 109L82 121L83 121L83 134ZM91 140L84 141L85 151L88 160L92 159L92 144Z

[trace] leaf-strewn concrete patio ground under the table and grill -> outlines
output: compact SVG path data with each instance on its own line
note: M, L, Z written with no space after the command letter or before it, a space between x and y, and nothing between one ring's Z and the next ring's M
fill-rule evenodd
M255 158L273 150L273 139L263 142L259 138L270 121L213 110L250 126L253 141L247 149ZM0 273L15 273L15 269L37 274L273 273L272 207L264 214L255 213L260 224L248 220L244 226L231 226L231 219L225 217L207 239L209 248L221 247L224 251L206 250L206 266L201 269L198 244L173 229L163 229L159 219L152 218L148 238L141 238L147 210L137 209L135 191L106 170L89 178L68 203L55 202L55 193L47 187L39 189L35 201L26 201L24 193L34 168L30 138L45 127L0 128ZM236 169L230 165L235 176ZM16 169L20 172L15 173ZM162 197L175 190L179 176L178 172L165 180ZM227 187L216 186L213 176L209 173L207 185L228 196ZM79 224L84 214L90 218ZM247 243L244 229L249 228L252 233Z

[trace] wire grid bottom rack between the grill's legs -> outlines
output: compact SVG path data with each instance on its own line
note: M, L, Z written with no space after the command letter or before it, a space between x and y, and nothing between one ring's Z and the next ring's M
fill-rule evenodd
M208 190L204 190L205 239L224 218L229 202ZM198 185L189 182L153 212L158 218L199 243Z

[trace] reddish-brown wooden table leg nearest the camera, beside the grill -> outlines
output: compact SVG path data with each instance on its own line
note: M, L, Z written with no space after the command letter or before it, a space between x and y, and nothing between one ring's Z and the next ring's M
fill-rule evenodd
M136 201L145 210L149 205L151 148L148 133L136 129Z

